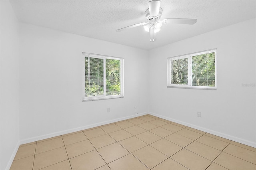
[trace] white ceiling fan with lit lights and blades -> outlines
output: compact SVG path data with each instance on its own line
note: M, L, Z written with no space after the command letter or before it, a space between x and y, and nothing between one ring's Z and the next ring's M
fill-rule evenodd
M145 11L146 20L148 22L142 22L138 24L134 24L131 26L127 26L124 28L120 28L116 30L116 32L121 32L127 30L129 28L134 28L137 26L144 26L144 29L147 32L150 32L150 42L154 42L156 40L155 33L159 32L162 24L195 24L196 19L188 19L188 18L165 18L162 21L159 19L162 16L162 8L160 8L160 0L150 0L148 2L148 9Z

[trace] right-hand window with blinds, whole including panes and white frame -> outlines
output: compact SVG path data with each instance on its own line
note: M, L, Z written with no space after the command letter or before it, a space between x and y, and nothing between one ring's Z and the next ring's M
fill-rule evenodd
M216 49L170 57L168 86L216 89Z

